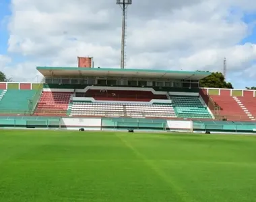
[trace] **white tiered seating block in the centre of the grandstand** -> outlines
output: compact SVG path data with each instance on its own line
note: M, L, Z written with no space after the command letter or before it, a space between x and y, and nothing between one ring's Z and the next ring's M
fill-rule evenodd
M170 104L73 102L73 116L176 117Z

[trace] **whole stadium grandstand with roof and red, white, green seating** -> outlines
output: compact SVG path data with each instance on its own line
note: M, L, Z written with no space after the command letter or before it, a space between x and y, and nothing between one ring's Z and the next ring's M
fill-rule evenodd
M1 115L255 121L254 90L199 88L209 72L37 67L41 83L0 83Z

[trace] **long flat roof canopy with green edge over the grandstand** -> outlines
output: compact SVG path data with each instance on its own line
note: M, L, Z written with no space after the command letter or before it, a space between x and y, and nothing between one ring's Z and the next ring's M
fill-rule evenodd
M199 80L210 75L210 72L170 71L157 69L115 69L115 68L81 68L81 67L36 67L44 77L139 77L158 79Z

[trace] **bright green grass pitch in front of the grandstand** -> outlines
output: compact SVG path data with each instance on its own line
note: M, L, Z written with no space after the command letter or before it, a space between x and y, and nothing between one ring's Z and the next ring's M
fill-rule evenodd
M256 199L256 137L0 131L0 201Z

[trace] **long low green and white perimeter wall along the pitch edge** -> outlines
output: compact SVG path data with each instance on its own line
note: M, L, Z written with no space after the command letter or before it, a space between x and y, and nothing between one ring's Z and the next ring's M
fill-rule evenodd
M103 118L79 119L45 116L0 116L0 128L64 129L90 131L125 130L256 133L256 122L177 121L165 119ZM1 132L0 132L1 133Z

